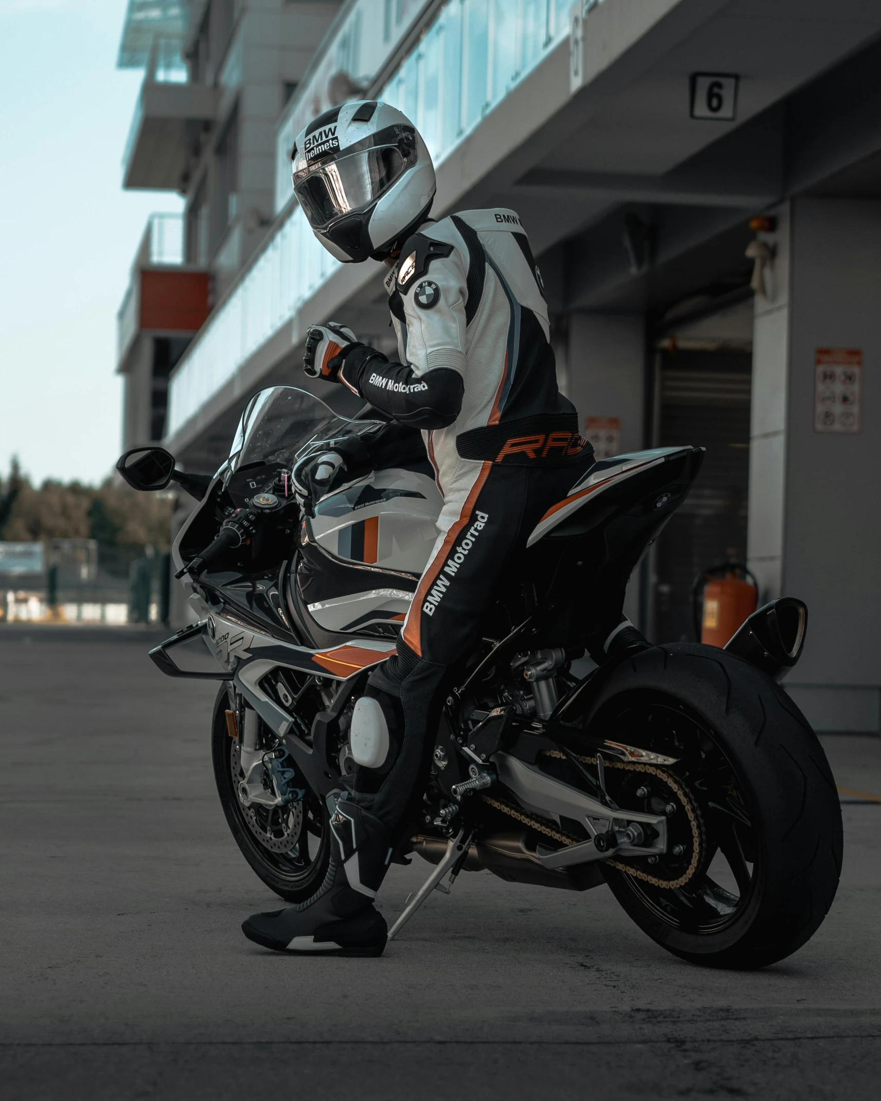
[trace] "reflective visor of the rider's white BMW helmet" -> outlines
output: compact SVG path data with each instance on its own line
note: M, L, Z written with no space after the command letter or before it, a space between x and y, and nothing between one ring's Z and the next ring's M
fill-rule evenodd
M399 145L374 145L338 160L294 163L294 192L313 229L374 203L411 166Z

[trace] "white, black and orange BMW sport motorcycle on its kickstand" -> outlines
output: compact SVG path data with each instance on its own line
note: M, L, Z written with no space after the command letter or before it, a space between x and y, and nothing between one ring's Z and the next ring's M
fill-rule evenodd
M431 468L347 480L334 445L381 428L369 407L349 419L273 386L248 402L211 479L159 447L118 464L135 489L176 481L202 498L173 546L196 622L150 657L168 676L221 682L224 814L290 903L324 880L326 797L358 756L352 710L395 652L437 537ZM420 818L393 857L434 868L390 938L433 890L481 869L566 891L605 883L656 944L715 967L773 963L823 922L841 813L823 749L777 683L802 653L804 603L772 601L724 650L651 645L622 614L701 458L666 447L595 462L497 579L478 643L450 671ZM175 661L197 637L210 671Z

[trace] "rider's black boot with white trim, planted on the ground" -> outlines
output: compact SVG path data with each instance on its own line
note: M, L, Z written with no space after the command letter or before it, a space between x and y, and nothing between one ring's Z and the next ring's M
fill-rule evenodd
M328 797L330 863L307 902L242 923L249 940L286 952L381 956L385 918L373 906L391 857L387 827L349 799Z

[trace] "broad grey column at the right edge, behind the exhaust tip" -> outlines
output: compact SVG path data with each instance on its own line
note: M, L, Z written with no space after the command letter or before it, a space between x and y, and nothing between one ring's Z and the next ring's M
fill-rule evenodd
M881 715L881 203L800 198L777 211L773 286L757 297L749 562L762 598L808 606L786 688L819 730ZM862 355L860 428L814 427L817 349Z

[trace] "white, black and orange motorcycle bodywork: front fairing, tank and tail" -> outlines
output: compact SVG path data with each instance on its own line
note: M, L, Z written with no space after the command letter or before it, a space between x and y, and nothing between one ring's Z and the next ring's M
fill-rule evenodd
M191 676L170 651L200 634L225 672L196 675L233 680L320 795L337 783L319 763L337 737L335 709L395 653L443 501L429 468L412 456L334 486L309 504L294 494L291 472L335 442L372 438L381 428L341 417L294 388L255 395L229 459L174 544L178 571L192 570L198 622L151 653L165 673ZM595 464L542 517L511 576L493 579L501 582L493 610L500 623L488 623L483 634L500 641L469 679L480 678L487 662L503 668L509 650L513 656L587 645L601 661L603 641L622 620L630 574L684 500L700 459L698 448L665 448ZM231 523L242 538L196 568L194 559ZM527 624L529 640L514 624ZM334 682L345 687L324 711L316 686ZM297 702L304 691L315 697L308 729Z

